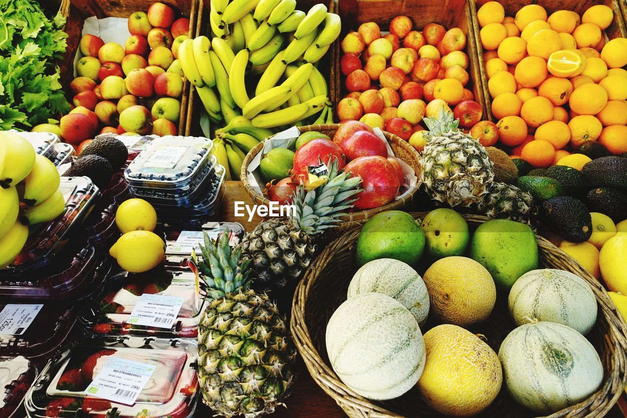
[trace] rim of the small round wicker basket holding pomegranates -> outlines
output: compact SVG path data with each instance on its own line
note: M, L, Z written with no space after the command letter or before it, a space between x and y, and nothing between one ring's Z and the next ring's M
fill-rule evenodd
M340 124L307 125L307 126L297 127L297 129L300 133L309 132L309 131L337 131L339 126ZM399 136L391 134L390 132L387 132L387 131L382 131L382 132L388 142L389 141L397 142L401 147L403 147L405 151L407 151L413 157L413 159L416 161L416 164L419 164L418 161L419 161L420 154L418 153L418 151L416 151L416 149L413 146L409 145L409 142L405 141ZM272 136L268 138L271 138L271 137ZM248 193L248 195L251 197L251 199L255 203L260 204L260 205L270 205L270 200L268 200L268 198L266 198L266 196L264 196L263 193L260 193L259 191L255 190L255 188L251 186L250 182L248 181L248 164L250 164L250 162L253 161L253 158L255 158L255 156L263 150L263 144L264 142L260 142L255 147L253 147L250 151L248 151L248 154L246 154L246 158L244 159L243 164L241 166L240 180L242 184L244 185L244 189L246 190L246 193ZM416 173L416 175L418 175L418 173ZM418 184L414 188L409 190L408 193L406 193L406 195L403 196L403 198L393 200L390 203L387 203L387 205L379 206L377 208L361 210L359 212L347 213L346 215L340 217L339 219L345 222L367 220L369 218L374 217L374 215L377 215L377 213L386 212L387 210L397 210L397 209L403 208L413 199L414 195L418 192L419 188L420 188L420 183L418 182Z

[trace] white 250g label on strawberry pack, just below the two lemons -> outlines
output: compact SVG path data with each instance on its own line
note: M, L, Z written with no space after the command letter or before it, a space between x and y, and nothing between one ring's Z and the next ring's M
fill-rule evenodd
M183 297L144 293L137 299L127 323L172 328L184 301Z

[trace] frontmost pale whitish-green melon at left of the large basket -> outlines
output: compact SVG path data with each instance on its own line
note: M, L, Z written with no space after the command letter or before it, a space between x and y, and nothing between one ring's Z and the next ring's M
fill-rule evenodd
M327 324L326 345L338 377L369 399L399 397L423 372L424 341L416 318L381 293L342 303Z

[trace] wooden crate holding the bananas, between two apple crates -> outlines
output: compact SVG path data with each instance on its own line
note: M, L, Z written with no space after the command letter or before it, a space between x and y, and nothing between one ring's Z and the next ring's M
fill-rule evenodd
M324 3L329 8L331 13L337 13L337 5L335 4L335 0L324 0L324 1L316 1L316 0L297 0L296 9L302 10L305 13L312 8L315 4ZM206 35L209 36L211 33L211 27L209 25L209 11L211 10L211 4L209 0L197 0L196 1L196 28L194 36ZM190 30L191 31L191 30ZM320 60L318 69L322 72L322 75L325 76L327 82L329 83L329 99L334 104L337 104L335 99L335 92L337 92L337 86L335 85L335 77L333 75L334 64L339 59L337 56L337 48L339 43L335 41L335 43L329 48L326 55L322 60ZM194 135L194 136L202 136L203 132L200 127L200 115L201 110L203 109L203 104L197 95L194 94L194 85L189 84L189 100L187 101L187 119L184 129L184 134L186 135ZM213 129L213 128L212 128Z

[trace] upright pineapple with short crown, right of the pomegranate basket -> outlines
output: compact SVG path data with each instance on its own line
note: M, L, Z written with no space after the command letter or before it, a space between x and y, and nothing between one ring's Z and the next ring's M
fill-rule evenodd
M420 156L420 181L431 198L450 206L470 206L482 200L494 180L492 161L485 148L458 129L453 113L441 110L428 117L426 146Z

